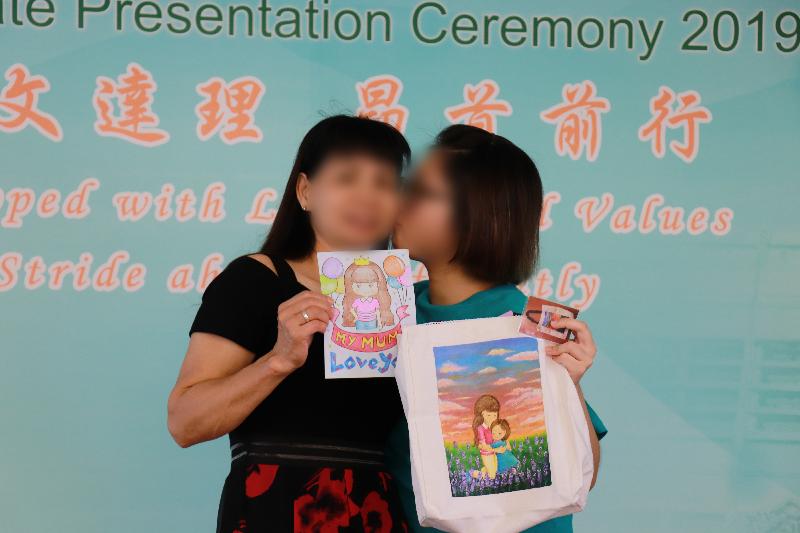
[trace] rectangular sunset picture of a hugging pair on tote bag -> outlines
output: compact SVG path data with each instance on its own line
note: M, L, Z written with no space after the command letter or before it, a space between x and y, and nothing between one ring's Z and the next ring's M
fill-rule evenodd
M533 337L433 348L453 496L551 484L538 349Z

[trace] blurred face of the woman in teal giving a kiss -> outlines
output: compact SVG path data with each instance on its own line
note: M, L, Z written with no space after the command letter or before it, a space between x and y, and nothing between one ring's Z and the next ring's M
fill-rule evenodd
M411 257L431 265L449 262L456 252L452 194L443 156L429 152L414 169L403 195L392 241Z

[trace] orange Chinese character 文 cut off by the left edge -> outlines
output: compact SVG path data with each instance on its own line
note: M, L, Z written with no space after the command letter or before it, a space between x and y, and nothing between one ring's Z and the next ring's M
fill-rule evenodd
M50 90L44 76L31 76L28 68L16 63L6 70L8 84L0 91L0 131L14 133L28 124L42 135L60 141L64 138L61 125L52 116L39 109L39 95Z

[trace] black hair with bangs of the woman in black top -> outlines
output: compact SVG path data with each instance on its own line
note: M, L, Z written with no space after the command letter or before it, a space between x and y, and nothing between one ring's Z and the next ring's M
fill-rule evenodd
M326 158L347 153L366 153L388 161L398 175L411 159L408 142L394 126L343 114L322 119L308 130L297 149L283 198L261 253L299 259L314 250L316 237L308 212L303 211L297 200L297 180L302 172L312 179ZM385 244L388 244L388 236Z

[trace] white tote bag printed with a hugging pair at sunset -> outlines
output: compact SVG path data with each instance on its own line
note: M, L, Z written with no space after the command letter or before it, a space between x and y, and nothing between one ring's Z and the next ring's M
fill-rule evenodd
M586 505L594 466L581 400L545 355L550 341L519 325L508 316L403 331L396 378L423 526L512 533Z

